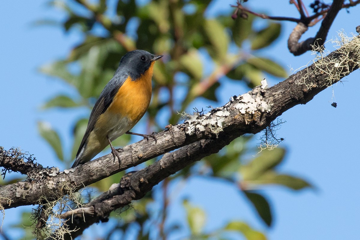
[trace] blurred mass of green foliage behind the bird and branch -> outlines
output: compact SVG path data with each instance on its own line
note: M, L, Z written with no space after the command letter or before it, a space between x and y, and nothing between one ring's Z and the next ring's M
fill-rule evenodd
M234 82L244 82L248 87L259 85L267 74L287 77L282 64L262 56L258 51L271 46L279 37L279 23L266 22L258 28L254 26L255 19L251 15L247 20L233 20L229 15L206 18L204 12L210 1L117 1L112 5L105 1L53 1L51 4L68 14L65 22L56 24L66 31L76 30L82 41L66 59L40 68L43 73L62 79L69 89L77 92L54 96L42 106L45 111L52 108L71 108L74 111L85 108L90 113L121 56L132 49L165 55L163 61L155 65L152 103L141 121L148 133L162 130L168 123L176 124L180 118L178 112L192 111L194 102L199 98L211 106L224 104L217 101L216 94L221 84L218 80L224 75ZM55 24L50 20L39 22L44 23ZM73 123L71 151L66 151L69 147L64 146L57 130L43 122L39 122L38 128L59 161L70 166L86 124L87 118L80 116ZM219 154L171 176L152 194L135 202L126 211L114 213L111 224L105 230L109 239L115 238L116 232L121 233L123 239L133 239L134 236L138 239L167 239L179 231L187 233L189 239L233 239L237 234L246 239L266 239L264 233L241 219L229 219L229 223L222 228L206 231L206 212L200 206L192 206L186 199L183 201L186 224L166 222L168 205L171 204L167 189L195 175L238 189L243 200L256 209L259 221L270 226L271 205L259 189L267 184L278 184L294 190L310 185L277 170L285 154L282 148L262 151L253 157L257 149L252 138L245 136L236 139ZM125 135L114 144L124 146L134 139L130 141L129 136ZM112 183L118 182L121 175L94 184L92 188L96 193L93 195L107 190ZM159 195L162 197L156 197ZM204 200L207 197L204 196ZM216 196L211 194L211 197ZM17 227L29 225L25 222L28 221L28 214L24 213L23 216L23 222ZM31 238L31 229L27 230L23 239Z

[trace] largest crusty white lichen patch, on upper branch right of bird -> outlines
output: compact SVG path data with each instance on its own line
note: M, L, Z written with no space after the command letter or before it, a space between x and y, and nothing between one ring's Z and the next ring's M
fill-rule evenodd
M261 113L270 112L273 103L264 100L263 95L266 88L267 82L264 79L261 81L261 86L254 88L252 91L238 97L231 97L224 107L212 109L206 114L201 112L194 112L193 115L187 114L187 120L184 121L185 124L188 124L186 133L193 134L195 131L208 129L217 136L222 131L226 118L230 116L230 108L232 110L236 109L240 114L244 115L244 118L248 119L247 124L252 120L252 116L256 118Z

